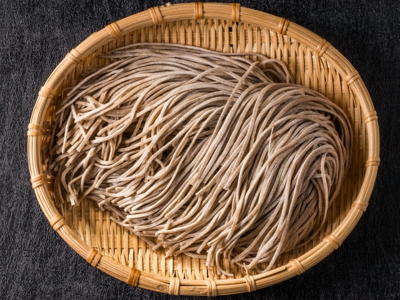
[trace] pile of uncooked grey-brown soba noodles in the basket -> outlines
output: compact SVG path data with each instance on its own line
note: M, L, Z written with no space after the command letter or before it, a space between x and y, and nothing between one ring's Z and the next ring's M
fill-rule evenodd
M103 56L114 62L57 106L57 198L93 199L154 249L224 273L222 257L270 269L313 238L351 153L340 108L256 53L141 43Z

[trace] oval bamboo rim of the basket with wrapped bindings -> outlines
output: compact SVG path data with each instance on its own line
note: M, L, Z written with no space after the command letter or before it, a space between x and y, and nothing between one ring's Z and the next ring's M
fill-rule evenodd
M128 32L153 24L160 25L176 20L202 18L250 23L277 31L281 35L292 37L307 47L314 49L316 55L323 55L331 66L342 75L347 85L351 85L353 92L361 95L358 97L360 100L358 104L364 116L363 121L368 148L366 150L365 174L350 210L329 235L325 236L317 245L304 254L270 271L257 275L246 275L243 278L191 280L163 277L144 271L140 272L135 268L124 266L110 257L102 256L97 250L84 243L69 226L63 226L64 219L58 213L45 187L44 183L47 182L47 178L43 175L41 167L40 142L43 127L40 123L48 106L51 104L51 99L55 95L55 89L61 84L66 74L77 64L83 62L85 57L93 53L100 45L104 45ZM27 134L28 165L32 188L43 213L53 229L93 266L128 284L169 292L170 294L212 296L240 293L266 287L301 274L337 249L355 227L368 205L379 165L379 131L376 111L362 79L351 63L325 39L314 32L285 18L242 7L238 3L195 2L194 4L177 3L172 5L168 3L132 14L105 26L99 31L93 32L75 48L71 49L47 78L38 93Z

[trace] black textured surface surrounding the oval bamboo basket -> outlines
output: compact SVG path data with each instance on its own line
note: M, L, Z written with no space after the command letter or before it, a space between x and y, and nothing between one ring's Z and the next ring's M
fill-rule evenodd
M166 1L0 1L0 298L190 299L131 287L90 266L49 226L29 182L26 126L37 92L65 54L106 24ZM182 2L171 0L171 3ZM223 1L230 2L230 1ZM375 109L381 165L370 204L343 244L282 283L218 299L400 298L400 4L242 0L336 47Z

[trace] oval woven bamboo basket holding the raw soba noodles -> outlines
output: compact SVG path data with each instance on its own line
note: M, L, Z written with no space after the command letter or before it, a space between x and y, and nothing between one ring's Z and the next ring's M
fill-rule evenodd
M109 49L134 42L194 45L216 51L254 51L283 60L295 82L319 91L340 106L352 124L352 164L333 202L326 225L300 249L281 254L267 272L245 271L226 259L234 277L207 269L203 259L165 257L110 220L95 202L57 210L53 178L44 163L54 104L81 74L107 65ZM50 225L88 263L128 284L169 294L215 296L272 285L299 275L340 246L365 211L379 165L376 111L360 75L325 39L287 19L237 3L166 4L123 18L92 33L66 54L38 92L27 131L32 188Z

